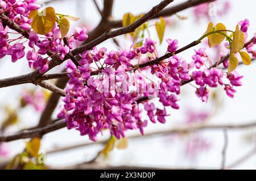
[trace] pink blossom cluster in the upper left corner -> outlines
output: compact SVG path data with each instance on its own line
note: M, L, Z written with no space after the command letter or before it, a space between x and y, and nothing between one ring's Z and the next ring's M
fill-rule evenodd
M73 49L73 42L75 40L84 41L88 38L86 28L76 27L75 32L71 36L65 37L67 42L64 43L57 23L51 32L39 37L36 32L31 30L30 23L32 20L28 19L28 14L31 10L40 8L36 4L36 0L1 1L1 6L2 13L8 19L13 20L23 30L27 30L30 50L27 50L27 53L25 52L27 39L24 35L10 39L8 33L12 32L9 32L8 26L4 26L0 22L0 57L3 58L6 55L10 55L11 61L16 62L26 55L30 68L39 69L40 73L45 73L48 70L48 58L52 56L52 54L48 54L49 50L53 55L59 54L60 60L63 60L65 55ZM47 55L47 57L43 57L44 55Z

